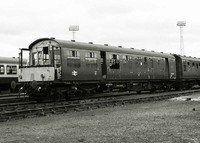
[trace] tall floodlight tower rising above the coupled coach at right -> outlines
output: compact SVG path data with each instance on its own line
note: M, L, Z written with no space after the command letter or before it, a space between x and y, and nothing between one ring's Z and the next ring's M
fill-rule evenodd
M183 26L186 26L185 21L178 21L177 26L180 27L180 55L184 55L184 42L183 42Z

